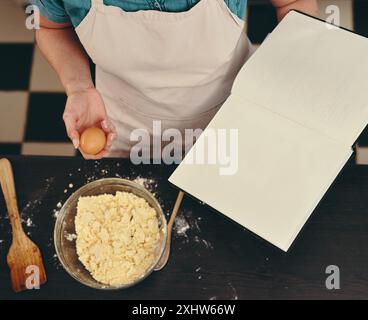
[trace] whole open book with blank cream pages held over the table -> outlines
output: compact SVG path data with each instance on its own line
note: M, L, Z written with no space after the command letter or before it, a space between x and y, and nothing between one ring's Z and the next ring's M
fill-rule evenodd
M184 159L169 181L287 251L367 123L368 39L292 11L187 154L236 128L237 173Z

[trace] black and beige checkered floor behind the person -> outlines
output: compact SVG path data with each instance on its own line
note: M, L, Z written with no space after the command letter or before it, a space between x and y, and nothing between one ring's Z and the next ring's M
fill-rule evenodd
M1 0L0 154L73 156L76 152L62 122L64 90L34 45L33 32L25 28L20 2ZM331 4L339 6L342 26L368 36L367 0L320 0L321 18L326 18ZM250 1L247 21L250 39L261 43L276 25L269 1ZM359 161L368 163L367 132L359 145Z

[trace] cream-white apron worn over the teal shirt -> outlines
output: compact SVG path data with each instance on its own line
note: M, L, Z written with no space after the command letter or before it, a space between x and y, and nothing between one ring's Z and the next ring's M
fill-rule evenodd
M224 0L186 12L125 12L92 0L76 28L96 64L96 87L118 139L109 156L126 156L134 129L204 129L228 98L252 53L244 21ZM189 142L190 143L190 142Z

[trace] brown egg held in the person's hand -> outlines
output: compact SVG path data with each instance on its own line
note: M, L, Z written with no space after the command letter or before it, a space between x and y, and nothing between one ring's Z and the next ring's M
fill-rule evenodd
M80 138L81 150L90 155L100 153L106 145L106 134L100 128L88 128L83 131Z

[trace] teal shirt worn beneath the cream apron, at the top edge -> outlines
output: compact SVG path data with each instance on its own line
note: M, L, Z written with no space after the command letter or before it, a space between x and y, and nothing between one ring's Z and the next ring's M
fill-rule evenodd
M224 0L230 10L244 19L247 0ZM71 22L77 27L91 8L91 0L30 0L50 21ZM106 5L120 7L125 11L162 10L183 12L191 9L199 0L104 0Z

